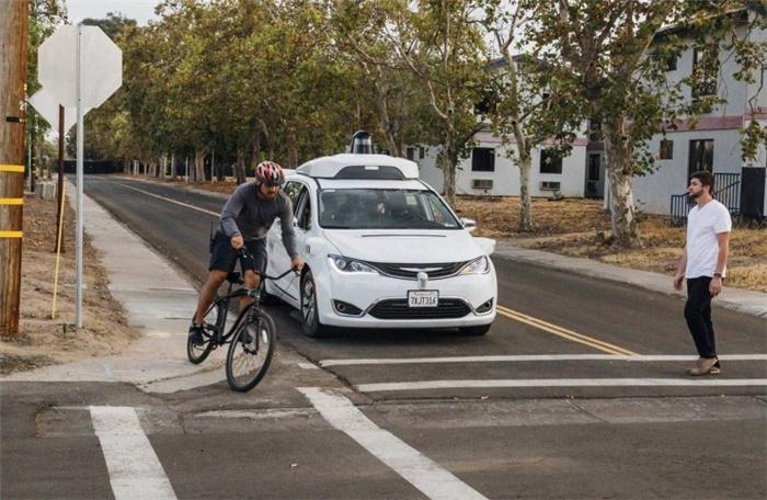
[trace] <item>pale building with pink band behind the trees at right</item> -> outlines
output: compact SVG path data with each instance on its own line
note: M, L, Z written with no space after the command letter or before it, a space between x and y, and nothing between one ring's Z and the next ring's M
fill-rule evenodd
M747 15L747 16L746 16ZM744 12L742 36L746 36L749 16L764 15L762 11ZM676 33L684 36L684 33ZM767 42L764 30L754 30L752 39ZM679 81L690 75L696 64L706 57L690 48L676 60L668 61L667 76ZM741 159L740 128L752 117L760 126L767 125L767 90L762 89L764 71L755 75L755 83L734 78L737 63L723 50L717 55L721 71L718 81L707 82L697 89L696 95L687 88L687 99L717 93L726 99L725 105L716 106L699 117L695 127L688 122L678 124L665 136L655 135L649 144L655 156L655 170L633 179L634 200L640 211L649 214L685 218L689 208L686 197L687 179L696 170L707 169L717 179L716 191L720 201L733 214L763 217L767 213L767 152L764 145L753 161ZM702 93L701 93L702 92ZM752 112L752 105L754 111ZM547 154L536 148L530 169L530 194L551 196L560 192L568 197L605 198L609 203L609 186L605 174L604 145L597 137L580 136L572 154L556 161L545 161ZM456 192L473 195L519 195L519 169L507 158L507 149L501 139L490 132L480 132L477 147L469 158L461 161L456 175ZM436 167L437 148L409 148L409 157L421 166L421 178L437 190L443 189L443 172ZM416 158L417 157L417 158Z

